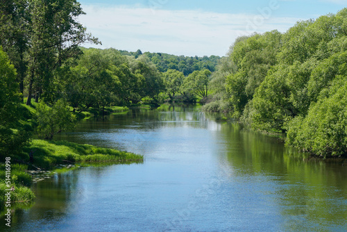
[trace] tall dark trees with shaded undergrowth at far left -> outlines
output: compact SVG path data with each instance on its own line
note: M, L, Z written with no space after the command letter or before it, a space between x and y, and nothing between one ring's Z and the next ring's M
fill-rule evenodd
M78 46L99 43L78 23L82 14L75 0L0 2L1 158L31 138L35 116L22 106L24 96L27 105L34 96L35 101L58 101L53 100L56 83L71 58L81 54Z

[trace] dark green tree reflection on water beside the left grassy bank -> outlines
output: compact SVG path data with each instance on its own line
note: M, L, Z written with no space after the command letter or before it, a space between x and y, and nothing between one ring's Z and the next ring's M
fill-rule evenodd
M56 228L50 228L50 226L81 210L91 193L88 189L97 188L98 183L102 182L104 173L111 168L115 166L71 170L33 185L33 191L37 197L35 203L33 207L15 210L12 214L12 229L26 231L27 223L40 222L44 219L45 224L35 224L37 227L33 231L49 231L50 229L54 231ZM90 181L88 185L81 183L81 175L88 176Z

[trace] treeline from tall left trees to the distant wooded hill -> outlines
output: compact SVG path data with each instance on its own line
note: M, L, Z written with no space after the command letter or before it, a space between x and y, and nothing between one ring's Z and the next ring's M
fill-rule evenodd
M0 2L1 154L19 151L33 135L53 138L91 108L208 95L219 57L85 49L101 42L78 22L83 14L76 0Z

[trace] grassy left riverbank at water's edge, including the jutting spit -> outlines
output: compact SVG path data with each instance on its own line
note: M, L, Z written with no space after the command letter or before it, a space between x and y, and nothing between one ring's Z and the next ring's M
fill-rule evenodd
M30 163L29 153L33 151L33 163ZM89 144L76 144L66 141L33 140L30 145L24 147L22 153L10 160L10 201L30 202L35 195L30 189L33 178L28 174L29 170L53 170L61 165L84 164L130 164L143 163L144 157L126 151L105 149ZM6 165L0 164L0 210L5 206Z

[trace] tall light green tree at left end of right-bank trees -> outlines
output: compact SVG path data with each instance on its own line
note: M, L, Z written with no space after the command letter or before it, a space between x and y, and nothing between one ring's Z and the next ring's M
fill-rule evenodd
M226 89L235 117L242 115L269 69L276 65L281 38L281 33L271 31L238 38L230 47L229 60L233 69L226 79Z

